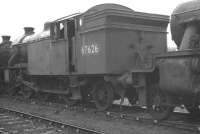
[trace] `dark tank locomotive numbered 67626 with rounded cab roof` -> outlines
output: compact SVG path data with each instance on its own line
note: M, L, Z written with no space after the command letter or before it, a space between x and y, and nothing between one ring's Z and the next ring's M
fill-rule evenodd
M16 79L9 82L21 84L12 91L57 94L67 103L92 98L99 110L124 97L146 105L146 79L153 55L166 52L168 22L168 16L102 4L47 22L40 33L26 27L8 60L8 68L20 70L9 70Z

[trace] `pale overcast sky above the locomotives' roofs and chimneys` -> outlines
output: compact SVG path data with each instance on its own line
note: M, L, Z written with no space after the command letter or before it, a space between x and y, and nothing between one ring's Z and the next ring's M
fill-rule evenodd
M178 4L185 1L188 0L1 0L0 36L11 35L13 40L23 34L25 26L34 27L39 32L46 21L84 12L102 3L116 3L135 11L170 15Z

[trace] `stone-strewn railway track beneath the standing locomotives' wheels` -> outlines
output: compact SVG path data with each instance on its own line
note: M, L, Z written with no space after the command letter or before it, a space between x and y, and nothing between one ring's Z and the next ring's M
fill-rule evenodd
M193 118L188 113L178 113L174 112L172 117L169 120L154 120L147 113L147 110L139 107L131 108L130 106L123 106L123 111L120 111L119 106L113 105L114 108L104 111L103 113L108 118L122 119L122 120L131 120L137 121L145 124L153 124L157 126L166 126L175 129L181 129L189 132L200 132L200 120L193 121ZM73 110L73 108L71 108ZM77 109L77 108L76 108ZM87 109L92 109L95 112L95 108L87 107ZM85 111L84 108L82 111ZM199 117L197 117L199 118Z

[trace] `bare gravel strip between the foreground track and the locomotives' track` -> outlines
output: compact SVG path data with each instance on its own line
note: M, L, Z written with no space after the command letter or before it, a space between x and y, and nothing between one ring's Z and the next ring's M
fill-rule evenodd
M191 134L188 131L164 126L108 118L104 114L94 113L94 111L84 112L82 110L70 110L69 108L63 109L63 107L55 108L53 106L25 103L14 99L1 98L0 106L104 131L106 134Z

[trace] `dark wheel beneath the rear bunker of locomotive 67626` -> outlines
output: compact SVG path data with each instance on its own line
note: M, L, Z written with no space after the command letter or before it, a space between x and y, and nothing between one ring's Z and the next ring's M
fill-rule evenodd
M94 103L99 111L108 109L114 98L113 87L110 83L105 81L98 82L93 88Z

